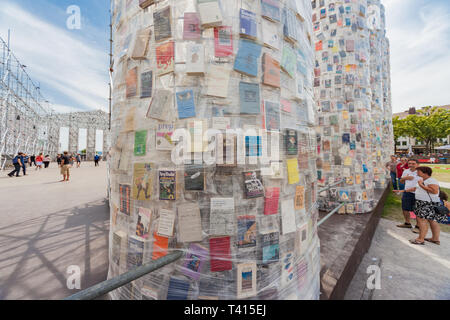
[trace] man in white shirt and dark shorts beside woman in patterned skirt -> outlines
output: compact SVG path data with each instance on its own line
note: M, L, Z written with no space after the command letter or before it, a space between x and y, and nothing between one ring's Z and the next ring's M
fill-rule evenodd
M403 216L405 218L405 223L397 225L398 228L409 228L412 229L411 225L411 214L410 212L414 210L414 204L415 204L415 191L416 191L416 184L419 180L419 177L417 175L416 168L418 167L417 160L416 159L409 159L408 161L408 167L409 169L406 169L403 171L402 178L400 179L401 183L405 184L404 190L394 190L394 192L397 193L403 193L402 195L402 210L403 210ZM418 232L419 228L414 228L413 232Z

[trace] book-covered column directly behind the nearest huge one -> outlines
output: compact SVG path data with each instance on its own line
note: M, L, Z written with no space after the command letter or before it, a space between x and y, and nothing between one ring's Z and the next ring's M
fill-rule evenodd
M370 212L374 201L370 47L367 1L313 0L314 93L319 110L321 205Z

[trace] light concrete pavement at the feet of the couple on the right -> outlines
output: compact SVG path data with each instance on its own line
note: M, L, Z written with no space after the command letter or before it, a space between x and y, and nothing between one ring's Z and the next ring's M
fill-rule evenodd
M431 243L417 246L409 243L417 235L409 229L397 228L396 224L380 220L345 299L450 300L450 234L441 233L440 246ZM367 289L367 280L374 274L367 273L371 265L380 267L381 289Z

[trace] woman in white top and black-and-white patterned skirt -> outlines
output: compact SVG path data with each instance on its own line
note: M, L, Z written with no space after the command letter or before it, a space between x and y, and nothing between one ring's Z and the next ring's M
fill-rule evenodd
M410 240L412 244L424 245L425 241L440 245L439 241L440 227L439 223L447 221L447 216L439 216L434 207L440 204L439 198L439 182L432 178L433 169L430 167L417 168L419 180L416 185L416 203L414 213L417 216L417 223L419 224L419 237ZM431 227L431 238L425 238L428 233L428 225Z

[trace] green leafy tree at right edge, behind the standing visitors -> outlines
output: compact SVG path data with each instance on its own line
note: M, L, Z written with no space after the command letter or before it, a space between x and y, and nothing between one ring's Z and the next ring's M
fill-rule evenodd
M450 111L439 107L423 108L403 121L403 133L424 142L428 153L432 153L437 139L450 134Z

